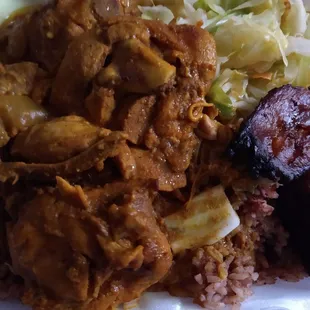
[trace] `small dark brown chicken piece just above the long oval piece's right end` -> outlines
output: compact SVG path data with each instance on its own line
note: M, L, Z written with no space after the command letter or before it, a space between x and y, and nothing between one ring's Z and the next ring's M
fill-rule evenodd
M105 126L115 109L114 90L100 87L86 98L85 107L94 123Z

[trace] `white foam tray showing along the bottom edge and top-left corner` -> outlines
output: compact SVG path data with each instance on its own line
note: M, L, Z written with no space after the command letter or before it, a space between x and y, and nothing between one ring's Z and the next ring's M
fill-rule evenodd
M102 0L104 1L104 0ZM176 0L179 1L179 0ZM310 2L310 0L308 0ZM47 0L0 0L0 23L14 10ZM274 285L255 287L242 310L310 310L310 278L298 283L278 281ZM191 299L172 297L167 293L147 293L140 302L143 310L201 310ZM0 302L0 310L29 310L18 302Z

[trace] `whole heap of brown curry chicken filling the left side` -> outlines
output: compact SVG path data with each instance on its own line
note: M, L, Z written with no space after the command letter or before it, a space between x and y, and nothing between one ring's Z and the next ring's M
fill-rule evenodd
M181 204L215 43L111 2L59 0L1 28L6 234L35 309L109 309L172 265L154 202Z

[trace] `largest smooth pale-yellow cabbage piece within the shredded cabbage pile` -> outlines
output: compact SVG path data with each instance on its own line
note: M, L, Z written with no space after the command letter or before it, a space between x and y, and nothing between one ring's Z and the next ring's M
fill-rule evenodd
M286 62L287 39L270 11L260 15L233 16L216 31L214 38L220 57L228 57L228 68L261 66L269 68L279 59Z

